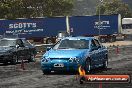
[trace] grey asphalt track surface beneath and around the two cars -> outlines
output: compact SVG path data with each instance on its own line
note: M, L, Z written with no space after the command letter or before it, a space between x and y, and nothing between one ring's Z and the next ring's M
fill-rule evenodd
M109 48L109 66L107 70L95 69L92 74L129 74L132 77L132 46ZM0 88L132 88L132 83L118 84L79 84L76 74L51 73L43 75L40 62L21 64L0 64Z

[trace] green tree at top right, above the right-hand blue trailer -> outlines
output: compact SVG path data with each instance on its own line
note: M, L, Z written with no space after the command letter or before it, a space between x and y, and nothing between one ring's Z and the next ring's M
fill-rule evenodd
M96 14L121 14L122 17L132 17L132 12L129 9L128 4L121 2L121 0L104 1L96 8Z

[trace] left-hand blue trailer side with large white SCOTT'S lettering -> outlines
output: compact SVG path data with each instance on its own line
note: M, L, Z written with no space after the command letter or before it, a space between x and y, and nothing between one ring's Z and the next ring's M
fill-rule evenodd
M19 37L56 36L66 31L66 17L0 20L0 34L15 34Z

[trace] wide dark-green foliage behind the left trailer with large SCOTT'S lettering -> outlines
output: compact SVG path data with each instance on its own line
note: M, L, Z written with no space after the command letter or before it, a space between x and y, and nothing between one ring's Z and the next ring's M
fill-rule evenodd
M1 0L0 18L65 16L72 8L73 0Z

